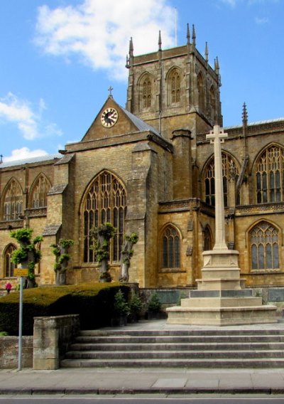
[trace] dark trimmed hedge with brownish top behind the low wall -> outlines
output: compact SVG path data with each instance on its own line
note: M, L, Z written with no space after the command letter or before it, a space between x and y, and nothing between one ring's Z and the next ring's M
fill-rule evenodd
M111 325L114 294L129 287L117 282L36 287L23 290L23 335L33 335L33 317L80 314L81 329ZM19 292L0 298L0 331L18 335Z

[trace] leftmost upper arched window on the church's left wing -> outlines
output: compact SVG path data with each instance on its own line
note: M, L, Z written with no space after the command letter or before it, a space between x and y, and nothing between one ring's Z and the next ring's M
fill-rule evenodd
M23 191L15 179L11 179L4 194L4 220L16 220L23 212Z

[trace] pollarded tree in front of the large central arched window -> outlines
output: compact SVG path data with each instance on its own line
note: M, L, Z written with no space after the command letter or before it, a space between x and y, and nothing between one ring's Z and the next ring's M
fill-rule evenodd
M93 239L92 249L95 259L99 262L99 282L111 282L109 273L109 243L114 237L116 228L107 222L92 228L89 235Z

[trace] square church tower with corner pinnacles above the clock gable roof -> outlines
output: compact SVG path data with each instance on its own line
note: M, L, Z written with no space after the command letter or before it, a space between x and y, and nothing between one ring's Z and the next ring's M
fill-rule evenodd
M222 126L218 59L214 68L196 48L195 27L187 24L187 44L162 50L159 33L158 51L133 55L131 38L129 85L126 109L151 124L166 139L177 129L190 130L191 136L207 132L214 124Z

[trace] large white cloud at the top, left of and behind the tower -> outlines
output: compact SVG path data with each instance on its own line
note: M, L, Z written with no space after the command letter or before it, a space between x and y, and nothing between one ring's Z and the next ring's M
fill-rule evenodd
M82 0L77 6L50 9L40 6L35 43L45 53L80 61L93 69L104 68L126 78L122 68L133 37L136 55L174 45L175 9L167 0Z

